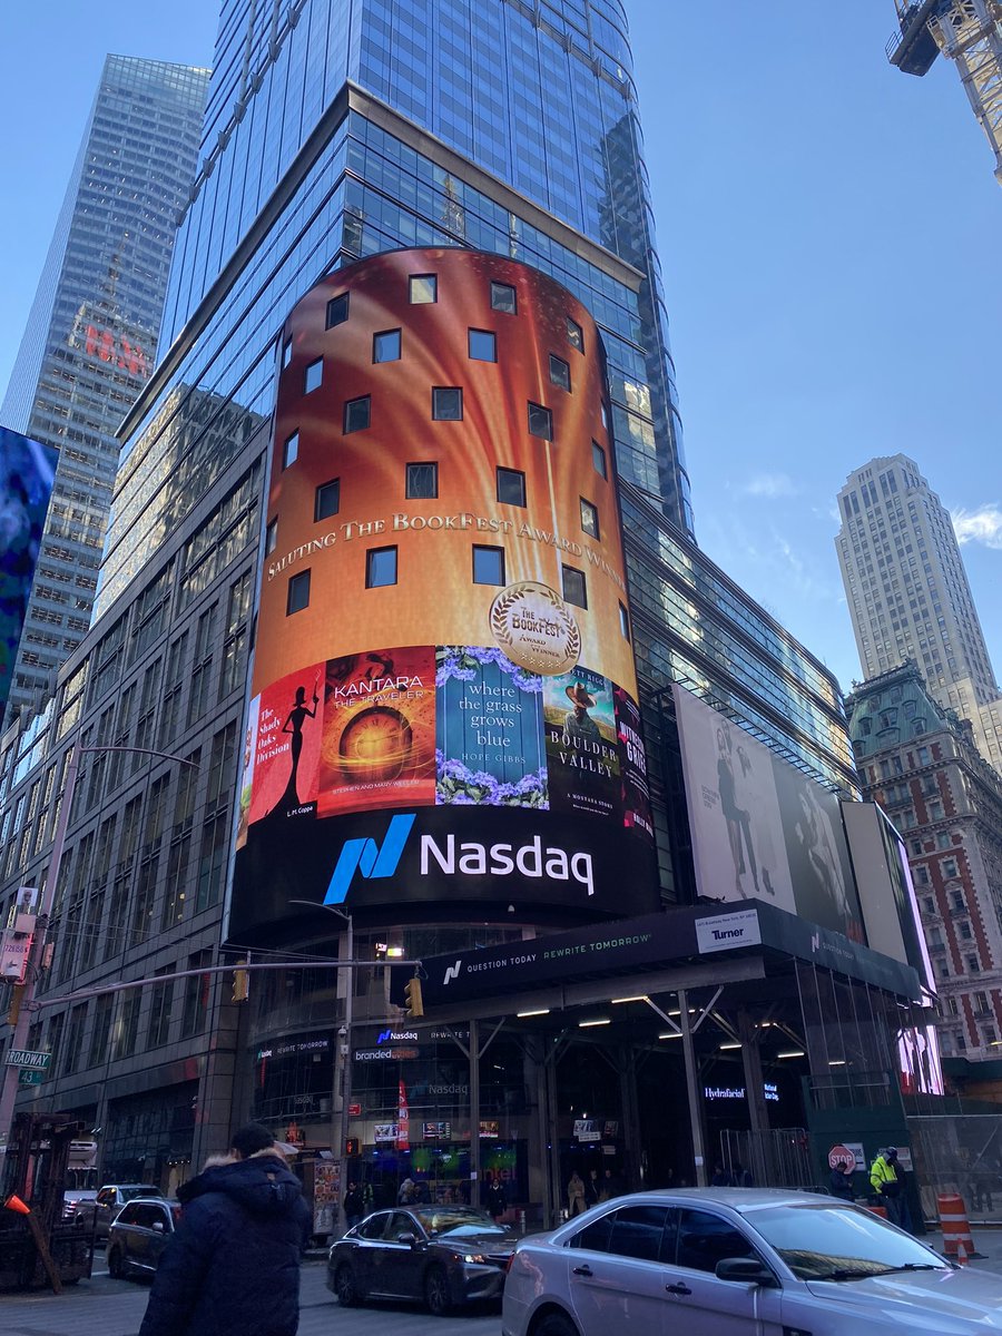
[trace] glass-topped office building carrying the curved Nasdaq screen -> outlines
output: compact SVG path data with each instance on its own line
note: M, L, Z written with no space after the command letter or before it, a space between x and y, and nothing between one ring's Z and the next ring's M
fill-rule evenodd
M545 1019L526 1045L498 1025L484 1034L496 1074L478 1116L481 1015L422 1026L420 1041L387 1026L387 962L521 954L573 925L603 942L596 921L660 922L677 902L688 935L657 959L684 986L701 911L673 687L834 799L856 784L838 684L691 537L619 0L566 0L562 15L508 0L226 13L170 347L122 428L98 620L45 711L0 740L5 898L44 880L69 747L83 758L31 1037L53 1053L43 1089L104 1129L106 1170L164 1186L234 1118L265 1118L303 1145L318 1233L333 1224L343 1120L389 1193L405 1113L421 1162L442 1170L436 1190L508 1172L553 1218L572 1108L596 1092L595 1154L608 1125L637 1177L643 1122L659 1166L689 1157L681 1049L663 1045L639 1074L640 1046L657 1049L675 1022L651 1013L635 1030L617 1007L625 1029L604 1045L585 1043L577 1003L554 1009L558 1045ZM557 647L549 671L517 657L526 635L534 652ZM470 709L484 739L461 745L453 725L474 697L518 708L484 711L481 725ZM346 709L335 736L327 708L362 699L367 713L355 727ZM576 725L587 767L556 740L578 708L601 715L601 741ZM520 721L518 747L505 720ZM505 846L518 850L508 871ZM321 910L329 895L371 967L338 967L349 935ZM774 910L774 925L786 918ZM763 930L752 963L712 957L700 974L748 983L728 994L732 1033L782 1006L803 1034L795 1058L770 1043L768 1075L743 1077L763 1132L766 1083L780 1116L798 1116L802 1057L831 1082L816 1038L830 939L819 930L815 949L798 931L783 939L796 950ZM242 1007L208 973L238 949L275 966L251 970ZM843 950L858 973L839 989L870 989L854 1061L874 1066L876 1018L916 995L912 971ZM61 1001L111 977L152 983ZM617 983L603 974L596 997L611 1005ZM717 1054L716 1021L700 1034L708 1062L740 1070Z

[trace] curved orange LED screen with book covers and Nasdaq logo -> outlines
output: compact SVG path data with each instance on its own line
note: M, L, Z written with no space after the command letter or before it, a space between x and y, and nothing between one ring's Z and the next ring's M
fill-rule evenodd
M516 261L393 251L294 309L231 941L290 900L656 906L607 413L595 322Z

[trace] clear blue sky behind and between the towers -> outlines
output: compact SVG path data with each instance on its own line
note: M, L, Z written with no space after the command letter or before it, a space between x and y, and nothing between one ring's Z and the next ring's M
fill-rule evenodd
M848 688L835 494L902 450L977 534L1002 673L1002 187L954 68L887 63L892 0L628 9L700 545ZM210 64L216 12L1 20L0 390L104 55Z

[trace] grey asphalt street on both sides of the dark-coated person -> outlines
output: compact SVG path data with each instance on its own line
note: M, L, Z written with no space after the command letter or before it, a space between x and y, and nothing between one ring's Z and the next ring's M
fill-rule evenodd
M56 1296L48 1291L0 1295L3 1336L136 1336L146 1312L148 1285L112 1280L104 1256L95 1256L94 1276ZM371 1304L341 1308L325 1285L326 1265L307 1261L301 1289L299 1336L500 1336L494 1308L457 1317L432 1317L415 1304Z

